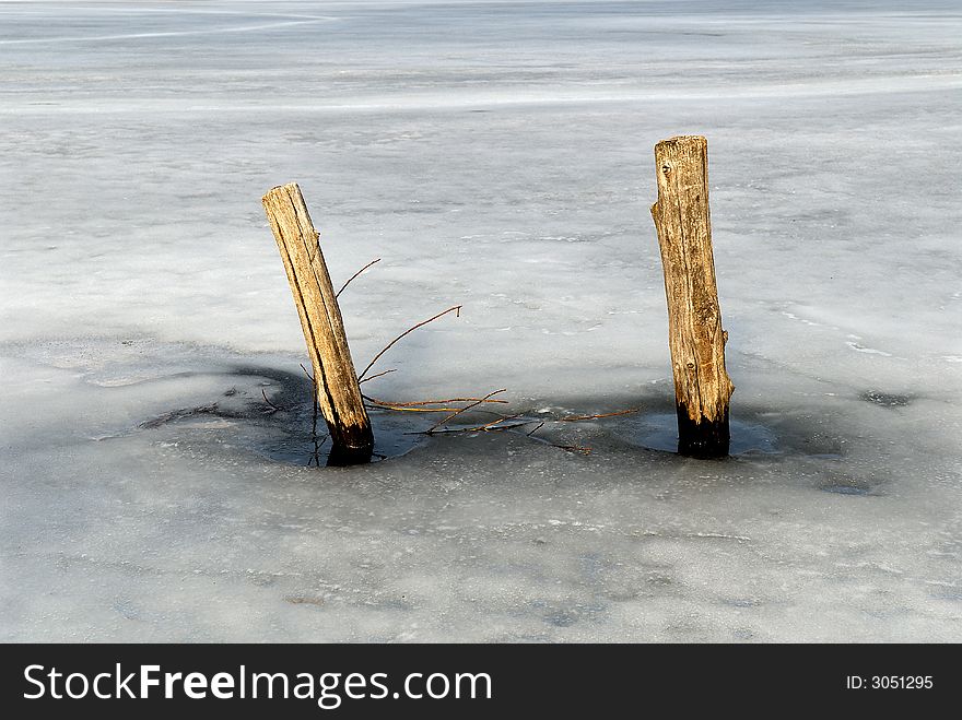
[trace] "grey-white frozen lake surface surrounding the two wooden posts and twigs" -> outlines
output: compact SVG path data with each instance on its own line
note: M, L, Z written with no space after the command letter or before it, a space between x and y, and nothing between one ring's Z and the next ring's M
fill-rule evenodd
M960 36L955 1L0 2L0 638L962 641ZM683 133L725 461L670 452ZM464 305L372 394L641 411L378 412L402 455L308 468L292 180L336 285L383 258L359 369Z

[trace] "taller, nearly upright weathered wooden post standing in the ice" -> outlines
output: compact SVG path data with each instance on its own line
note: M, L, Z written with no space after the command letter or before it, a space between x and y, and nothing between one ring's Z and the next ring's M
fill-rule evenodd
M728 401L735 387L725 370L722 310L715 287L708 211L708 143L682 135L655 145L658 231L668 335L678 410L678 452L695 458L728 455Z

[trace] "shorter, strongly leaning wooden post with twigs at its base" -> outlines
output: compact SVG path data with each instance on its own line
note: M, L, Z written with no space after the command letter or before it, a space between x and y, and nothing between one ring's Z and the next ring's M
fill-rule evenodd
M328 464L368 462L374 449L371 420L361 398L341 310L320 252L319 235L310 222L301 188L296 182L282 185L268 191L262 202L284 261L314 365L317 403L331 436Z

